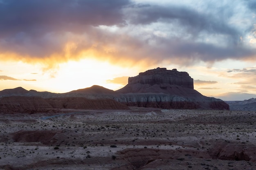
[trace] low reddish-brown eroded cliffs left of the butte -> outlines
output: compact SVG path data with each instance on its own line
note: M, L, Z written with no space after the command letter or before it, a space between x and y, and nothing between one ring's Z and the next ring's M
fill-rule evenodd
M0 98L0 113L56 113L60 109L129 109L112 99L87 99L85 97L27 97Z

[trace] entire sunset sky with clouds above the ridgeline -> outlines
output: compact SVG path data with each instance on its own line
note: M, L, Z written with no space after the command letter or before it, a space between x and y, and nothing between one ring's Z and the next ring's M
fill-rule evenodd
M117 90L157 67L256 98L256 1L0 0L0 90Z

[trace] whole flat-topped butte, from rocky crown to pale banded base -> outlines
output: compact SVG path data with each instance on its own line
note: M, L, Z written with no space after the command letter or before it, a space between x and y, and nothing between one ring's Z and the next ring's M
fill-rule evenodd
M129 77L114 99L128 106L179 109L229 110L221 99L206 97L193 89L193 79L176 69L156 68Z

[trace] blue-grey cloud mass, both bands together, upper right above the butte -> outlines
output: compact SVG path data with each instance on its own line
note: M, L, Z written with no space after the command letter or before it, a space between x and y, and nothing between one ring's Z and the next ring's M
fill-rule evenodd
M225 10L226 12L222 12ZM180 60L186 60L191 64L196 60L215 62L228 58L243 60L255 57L256 49L244 45L240 39L245 35L245 30L229 24L229 19L236 12L225 7L210 13L207 10L199 12L182 6L148 5L135 6L127 15L132 24L150 25L156 22L175 24L178 30L182 30L182 34L167 38L153 37L156 44L161 46L155 50L161 54L158 57L167 59L182 57ZM216 38L217 42L198 41L207 37Z

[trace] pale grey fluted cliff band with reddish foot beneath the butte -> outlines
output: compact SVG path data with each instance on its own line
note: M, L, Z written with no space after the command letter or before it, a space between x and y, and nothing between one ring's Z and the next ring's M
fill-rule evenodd
M229 105L221 99L201 95L198 98L182 97L171 94L127 93L114 98L127 106L164 108L164 109L213 109L229 110Z

